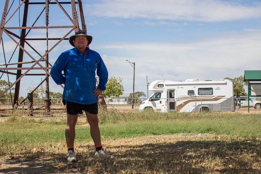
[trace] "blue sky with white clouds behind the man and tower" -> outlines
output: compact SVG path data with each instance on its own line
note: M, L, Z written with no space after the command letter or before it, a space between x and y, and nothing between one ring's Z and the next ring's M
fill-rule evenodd
M50 25L68 22L61 12L51 10ZM126 93L132 93L133 85L133 67L126 59L135 62L135 92L145 94L146 77L148 82L220 80L261 69L260 1L84 0L83 10L87 32L93 36L90 48L100 53L109 76L123 79ZM51 18L60 15L64 20ZM41 32L34 34L46 31ZM50 30L51 35L57 31ZM69 48L63 41L49 56L50 63ZM2 56L0 61L4 63ZM39 79L25 79L22 84L38 84ZM62 92L52 80L50 90ZM20 95L24 94L21 89Z

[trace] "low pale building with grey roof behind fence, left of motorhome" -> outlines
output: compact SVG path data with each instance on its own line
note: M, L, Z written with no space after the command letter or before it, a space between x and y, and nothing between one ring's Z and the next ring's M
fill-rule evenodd
M131 104L131 93L123 93L119 97L104 98L106 104Z

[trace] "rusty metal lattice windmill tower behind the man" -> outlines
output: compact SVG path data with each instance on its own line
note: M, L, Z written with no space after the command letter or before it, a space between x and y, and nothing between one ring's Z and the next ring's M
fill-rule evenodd
M79 29L86 31L81 0L6 0L0 24L0 80L8 79L9 87L0 97L8 93L13 107L21 105L27 99L18 102L21 80L39 77L43 80L31 94L45 82L45 110L50 111L49 57Z

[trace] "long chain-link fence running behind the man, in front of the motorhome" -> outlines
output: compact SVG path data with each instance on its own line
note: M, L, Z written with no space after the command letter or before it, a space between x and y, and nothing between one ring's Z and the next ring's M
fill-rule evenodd
M158 112L248 112L248 100L242 98L160 98L149 99L148 98L104 98L107 108L117 111L139 111L140 107L155 107ZM18 103L21 103L24 99L19 99ZM144 102L146 100L146 102ZM34 109L44 109L45 98L33 98ZM141 104L144 102L144 104ZM148 104L149 103L149 104ZM0 109L11 110L13 107L13 100L11 98L0 98ZM249 101L249 113L261 113L261 101L250 100ZM28 100L25 100L17 107L21 110L28 108ZM61 98L51 99L51 109L65 109Z

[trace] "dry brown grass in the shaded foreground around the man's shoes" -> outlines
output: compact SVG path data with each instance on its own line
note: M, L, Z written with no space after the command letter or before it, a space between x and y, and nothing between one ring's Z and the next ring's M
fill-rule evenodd
M66 162L64 146L45 143L23 147L19 156L1 159L0 171L23 174L261 173L259 139L177 134L104 140L104 148L113 157L100 159L93 157L92 142L76 142L77 163Z

